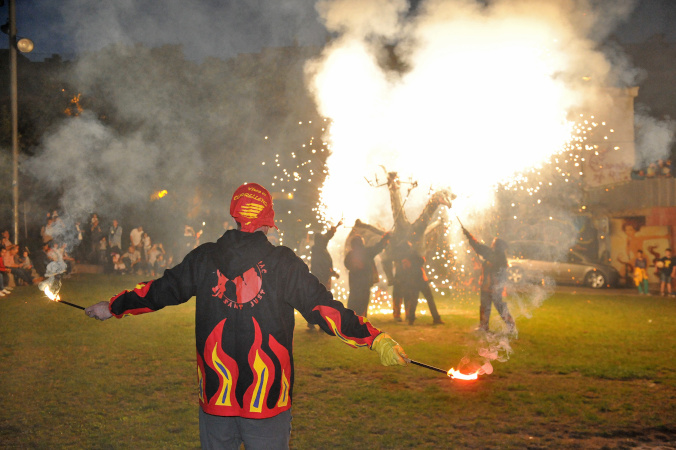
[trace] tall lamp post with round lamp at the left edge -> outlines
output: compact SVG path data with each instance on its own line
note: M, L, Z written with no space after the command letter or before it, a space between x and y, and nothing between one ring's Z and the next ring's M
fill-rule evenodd
M16 38L16 7L15 0L9 0L9 21L2 31L9 35L9 98L12 116L12 200L14 210L12 222L14 225L14 244L19 243L19 112L17 101L16 52L27 53L33 50L30 39Z

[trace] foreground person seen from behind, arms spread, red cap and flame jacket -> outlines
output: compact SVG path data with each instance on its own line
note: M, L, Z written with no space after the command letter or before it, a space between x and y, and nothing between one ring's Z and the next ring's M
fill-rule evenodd
M237 230L192 250L161 278L85 310L106 320L154 312L196 297L200 442L205 449L288 448L293 398L294 310L383 365L406 365L388 334L334 300L291 249L267 240L276 228L270 193L240 186L230 203Z

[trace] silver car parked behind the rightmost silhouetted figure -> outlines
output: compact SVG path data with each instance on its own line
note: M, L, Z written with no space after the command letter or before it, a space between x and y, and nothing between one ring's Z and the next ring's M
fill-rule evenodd
M613 266L547 242L514 241L507 250L508 278L514 284L551 282L595 289L616 287L620 273Z

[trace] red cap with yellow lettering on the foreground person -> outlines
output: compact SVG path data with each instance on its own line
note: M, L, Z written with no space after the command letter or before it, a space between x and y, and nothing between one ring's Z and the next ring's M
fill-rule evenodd
M230 215L247 233L253 233L263 226L277 228L272 196L260 184L248 183L237 188L232 194Z

